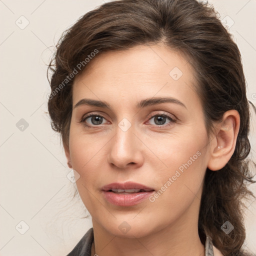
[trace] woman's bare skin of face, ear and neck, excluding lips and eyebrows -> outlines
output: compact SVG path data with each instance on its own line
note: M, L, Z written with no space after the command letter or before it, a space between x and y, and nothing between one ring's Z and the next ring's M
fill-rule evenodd
M169 75L174 67L182 71L177 80ZM75 78L64 148L69 166L79 174L77 189L92 217L95 251L92 247L91 255L204 255L197 230L204 173L207 167L222 168L231 157L239 115L235 110L225 112L208 139L194 74L177 52L164 45L143 45L102 53ZM185 107L165 102L136 108L142 99L166 96ZM111 110L85 104L74 107L83 98L106 101ZM95 125L93 117L81 122L88 113L101 115L102 123ZM163 117L163 124L157 123L152 116L162 113L174 121ZM123 118L131 124L126 131L118 126ZM146 199L123 207L102 195L103 185L124 181L157 191L198 151L200 156L153 202ZM130 226L126 233L118 228L123 221Z

